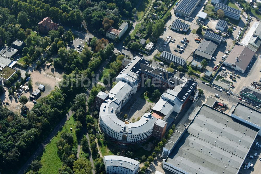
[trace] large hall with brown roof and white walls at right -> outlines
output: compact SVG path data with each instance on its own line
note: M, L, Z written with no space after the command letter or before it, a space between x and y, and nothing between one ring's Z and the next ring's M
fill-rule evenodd
M254 54L254 51L245 46L235 45L223 63L235 71L245 73Z

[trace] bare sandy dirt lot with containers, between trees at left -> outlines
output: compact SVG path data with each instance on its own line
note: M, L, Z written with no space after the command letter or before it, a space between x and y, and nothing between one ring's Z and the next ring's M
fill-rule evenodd
M46 68L44 66L40 70L36 70L31 73L33 90L38 89L39 84L45 86L45 91L41 92L41 96L39 98L48 95L50 91L54 90L55 86L58 86L58 83L62 79L62 74L63 74L62 72L56 71L53 67ZM9 98L8 89L7 88L5 89L6 89L5 94L0 96L1 100L8 101L9 105L7 105L7 107L10 110L14 111L15 113L19 113L22 105L20 104L17 98L14 98L14 96ZM25 95L27 98L29 98L33 90L23 93L22 95ZM29 109L32 109L34 104L30 100L28 100L26 106Z

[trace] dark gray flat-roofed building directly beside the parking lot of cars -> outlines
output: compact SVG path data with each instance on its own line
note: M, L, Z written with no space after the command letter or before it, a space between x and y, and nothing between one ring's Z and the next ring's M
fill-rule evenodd
M216 43L212 42L211 40L203 39L199 43L198 48L195 49L193 55L200 59L206 59L206 61L210 61L216 49Z

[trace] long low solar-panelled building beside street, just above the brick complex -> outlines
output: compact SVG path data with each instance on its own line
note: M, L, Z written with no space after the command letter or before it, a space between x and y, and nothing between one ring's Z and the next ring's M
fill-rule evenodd
M163 51L161 53L161 55L159 56L159 59L161 59L161 60L163 60L165 62L168 62L168 63L173 62L174 65L176 65L176 66L182 66L183 67L186 64L186 60L185 59L183 59L181 57L178 57L178 56L176 56L174 54L171 54L171 53L169 53L167 51Z

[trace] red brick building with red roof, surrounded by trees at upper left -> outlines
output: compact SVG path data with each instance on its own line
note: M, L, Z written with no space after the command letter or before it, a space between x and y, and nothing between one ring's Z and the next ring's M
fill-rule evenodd
M57 30L59 24L54 23L49 17L44 18L38 23L38 30L40 33L48 34L51 30Z

